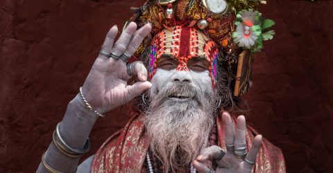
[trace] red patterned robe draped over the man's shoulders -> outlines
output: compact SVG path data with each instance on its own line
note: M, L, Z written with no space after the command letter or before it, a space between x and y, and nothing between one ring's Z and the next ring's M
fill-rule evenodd
M225 149L222 113L216 118L216 127L219 146ZM144 131L141 116L134 116L123 129L108 138L97 151L92 163L92 172L141 172L149 146L149 138ZM255 129L247 127L248 149L257 134ZM280 148L263 138L253 172L286 172Z

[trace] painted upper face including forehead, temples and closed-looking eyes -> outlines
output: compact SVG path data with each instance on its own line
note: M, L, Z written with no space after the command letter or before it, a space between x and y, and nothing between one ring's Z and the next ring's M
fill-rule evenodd
M219 48L204 33L195 28L176 26L158 33L151 44L149 77L156 69L176 71L208 71L213 86L216 83Z

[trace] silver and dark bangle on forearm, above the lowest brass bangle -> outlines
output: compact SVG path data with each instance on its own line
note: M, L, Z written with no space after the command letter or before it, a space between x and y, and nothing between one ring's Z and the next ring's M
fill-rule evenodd
M69 157L78 158L89 152L90 149L89 138L87 138L87 142L85 143L85 147L83 147L83 149L74 149L69 145L67 145L67 143L65 143L65 140L63 140L62 137L60 136L59 129L60 129L60 122L58 123L56 130L53 132L53 143L54 145L56 145L59 151L62 152L62 154L65 154L66 156Z

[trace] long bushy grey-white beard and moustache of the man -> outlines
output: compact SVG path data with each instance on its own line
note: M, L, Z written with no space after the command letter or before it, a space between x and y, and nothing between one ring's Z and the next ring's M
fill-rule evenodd
M189 84L169 84L151 97L144 124L150 137L150 149L163 165L163 172L188 169L214 125L216 93L196 89ZM196 95L182 102L168 98L172 93Z

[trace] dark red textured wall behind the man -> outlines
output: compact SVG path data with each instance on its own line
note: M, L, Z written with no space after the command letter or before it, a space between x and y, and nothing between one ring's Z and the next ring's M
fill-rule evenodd
M35 172L108 29L142 3L0 1L0 172ZM261 9L277 35L256 57L248 120L282 148L288 172L333 172L332 8L271 0ZM98 120L91 153L126 123L120 112Z

